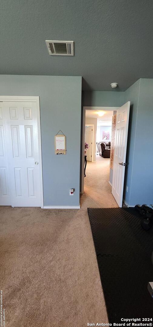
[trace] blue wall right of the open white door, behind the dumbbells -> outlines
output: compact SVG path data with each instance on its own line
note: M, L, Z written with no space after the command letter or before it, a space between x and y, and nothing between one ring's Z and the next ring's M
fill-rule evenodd
M127 91L131 101L128 133L126 202L153 204L153 79L139 79Z

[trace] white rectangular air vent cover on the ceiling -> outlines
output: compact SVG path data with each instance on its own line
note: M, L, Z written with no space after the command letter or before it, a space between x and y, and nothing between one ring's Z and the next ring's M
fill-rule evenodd
M74 56L73 41L48 41L48 52L51 56Z

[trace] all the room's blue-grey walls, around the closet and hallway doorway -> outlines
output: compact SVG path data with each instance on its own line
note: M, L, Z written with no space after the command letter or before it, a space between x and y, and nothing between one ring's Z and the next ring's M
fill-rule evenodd
M40 96L44 205L79 205L81 77L1 75L0 95ZM140 79L125 92L82 95L83 106L119 107L127 101L131 107L124 198L129 205L151 204L153 79ZM59 129L66 135L65 156L54 155ZM75 188L73 197L70 188Z

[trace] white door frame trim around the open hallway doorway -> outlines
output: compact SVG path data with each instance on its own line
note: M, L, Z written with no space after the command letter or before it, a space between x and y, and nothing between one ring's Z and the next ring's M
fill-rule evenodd
M83 106L83 114L82 114L82 160L81 160L81 194L84 193L84 142L85 142L85 115L86 110L117 110L120 107L88 107Z

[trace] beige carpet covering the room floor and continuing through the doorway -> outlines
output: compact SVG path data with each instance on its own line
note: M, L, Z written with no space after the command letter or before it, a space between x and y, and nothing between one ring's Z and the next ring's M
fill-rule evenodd
M109 160L98 156L86 173L80 210L0 208L6 327L108 322L87 207L117 207Z

